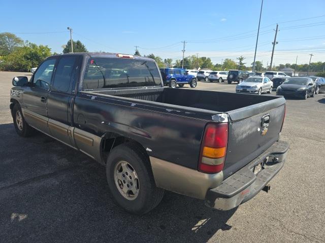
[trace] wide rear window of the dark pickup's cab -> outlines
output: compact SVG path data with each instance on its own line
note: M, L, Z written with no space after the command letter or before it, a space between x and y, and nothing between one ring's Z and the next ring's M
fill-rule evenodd
M86 67L83 89L161 86L154 62L125 58L91 58Z

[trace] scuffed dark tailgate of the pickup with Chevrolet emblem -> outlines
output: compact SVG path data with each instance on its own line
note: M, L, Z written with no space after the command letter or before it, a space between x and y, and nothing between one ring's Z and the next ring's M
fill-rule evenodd
M228 112L230 123L224 178L247 165L279 139L284 113L283 97Z

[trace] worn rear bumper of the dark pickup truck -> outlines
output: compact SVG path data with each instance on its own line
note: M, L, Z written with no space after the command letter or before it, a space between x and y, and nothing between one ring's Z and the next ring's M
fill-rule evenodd
M281 170L285 162L288 144L276 142L248 165L226 178L221 185L208 190L206 205L217 210L230 210L245 203L261 191ZM263 164L256 175L256 165Z

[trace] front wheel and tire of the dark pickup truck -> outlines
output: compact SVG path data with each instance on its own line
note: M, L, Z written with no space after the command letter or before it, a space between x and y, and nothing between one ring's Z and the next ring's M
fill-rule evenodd
M35 130L26 123L19 104L14 105L12 109L12 118L14 120L16 133L19 136L29 137L34 134Z

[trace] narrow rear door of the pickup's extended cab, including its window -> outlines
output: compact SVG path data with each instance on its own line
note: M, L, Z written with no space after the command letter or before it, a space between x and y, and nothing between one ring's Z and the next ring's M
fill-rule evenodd
M72 138L72 107L78 59L77 56L64 56L58 60L47 99L48 127L51 135L73 147L75 143Z

